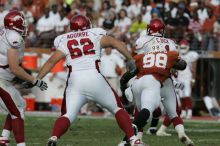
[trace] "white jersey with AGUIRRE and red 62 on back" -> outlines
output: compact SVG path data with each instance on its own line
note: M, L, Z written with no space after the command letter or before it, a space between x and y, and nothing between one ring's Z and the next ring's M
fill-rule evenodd
M54 46L66 55L66 63L73 70L95 69L100 60L100 39L106 35L101 28L69 32L56 37Z

